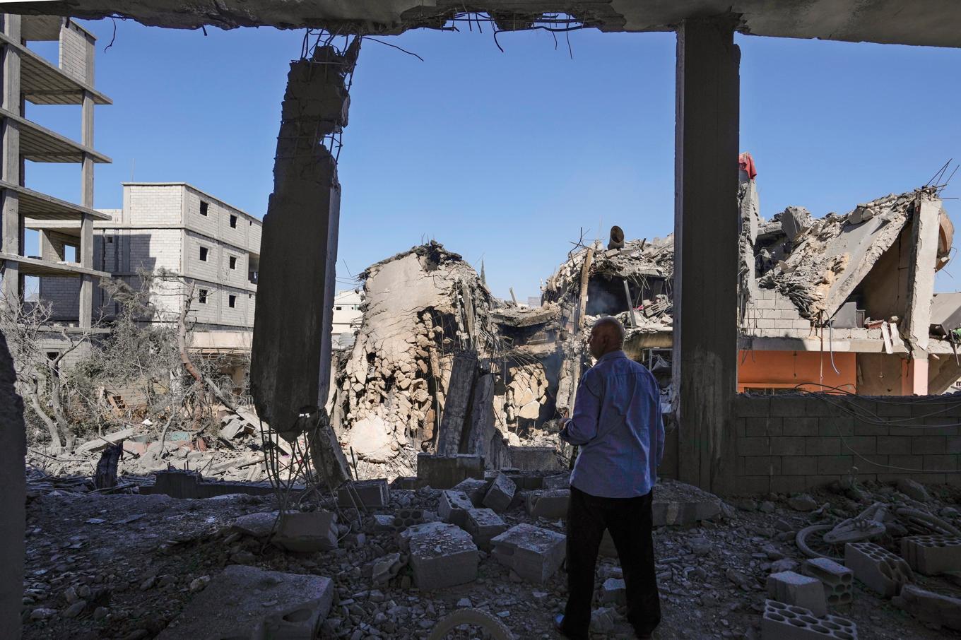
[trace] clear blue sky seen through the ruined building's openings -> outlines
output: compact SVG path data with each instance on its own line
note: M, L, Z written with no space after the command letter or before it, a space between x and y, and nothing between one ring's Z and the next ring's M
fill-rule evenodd
M188 182L262 216L286 71L304 32L174 31L84 21L99 37L97 208L120 183ZM338 278L434 238L485 264L494 293L538 294L577 240L610 225L628 237L673 229L673 34L584 30L415 31L367 41L340 155ZM757 162L765 217L789 205L816 216L923 185L961 160L961 51L738 37L741 148ZM33 45L56 58L56 43ZM72 137L79 107L27 115ZM77 201L76 165L28 162L27 185ZM945 196L961 196L961 172ZM946 201L961 220L957 201ZM961 228L961 225L959 225ZM600 230L600 231L599 231ZM36 248L28 239L28 253ZM952 277L953 276L953 277ZM939 290L961 288L961 268Z

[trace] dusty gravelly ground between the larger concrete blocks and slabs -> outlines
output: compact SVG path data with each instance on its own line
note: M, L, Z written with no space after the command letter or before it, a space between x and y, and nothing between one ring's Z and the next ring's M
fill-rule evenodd
M956 505L958 494L952 491L944 489L937 505L931 506L944 511L946 505ZM894 493L873 496L878 497L902 498ZM867 505L830 493L815 498L819 504L830 502L834 513L825 515L834 519L849 517ZM395 507L431 508L436 501L437 492L429 489L391 492ZM763 583L771 573L772 558L783 554L802 561L791 531L806 526L813 516L783 502L732 502L749 510L730 508L727 518L700 527L656 530L664 613L656 637L760 637ZM477 581L440 592L419 592L409 586L408 568L380 586L361 578L363 564L397 551L388 533L369 534L360 549L320 554L287 554L263 547L253 538L227 538L228 525L236 516L277 508L273 497L250 496L176 500L54 492L32 499L28 505L24 638L152 638L189 602L195 578L216 575L229 563L333 578L337 598L324 638L423 638L436 620L466 605L463 599L499 616L517 638L559 637L551 618L564 601L563 571L545 585L531 584L512 578L505 567L483 557ZM951 508L947 514L952 522L958 522ZM512 525L528 518L523 510L517 510L505 520ZM537 524L563 528L560 522ZM615 567L609 559L600 563L599 585ZM740 580L743 586L732 580ZM919 577L918 581L927 589L961 595L961 589L947 579ZM70 601L78 600L86 606L75 605L71 610ZM76 617L68 617L80 608L83 611ZM853 605L834 613L853 620L862 639L933 640L958 635L925 627L856 581ZM610 637L630 637L620 614L623 611L615 615L621 622Z

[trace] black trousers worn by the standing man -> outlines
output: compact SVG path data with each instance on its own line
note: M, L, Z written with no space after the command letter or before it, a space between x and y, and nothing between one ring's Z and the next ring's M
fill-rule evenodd
M651 633L660 623L660 596L654 574L651 501L638 498L599 498L571 487L567 511L567 607L564 633L586 638L591 622L594 571L604 529L610 531L628 597L628 622L638 635Z

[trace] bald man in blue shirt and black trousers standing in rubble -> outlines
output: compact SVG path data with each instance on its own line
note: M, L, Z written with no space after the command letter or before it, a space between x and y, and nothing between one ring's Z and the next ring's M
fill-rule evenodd
M664 453L660 395L651 372L624 353L624 326L616 318L594 323L589 344L597 363L580 379L574 416L560 431L580 453L567 513L567 606L554 626L568 638L587 638L607 529L624 571L628 622L637 637L650 638L660 623L651 512Z

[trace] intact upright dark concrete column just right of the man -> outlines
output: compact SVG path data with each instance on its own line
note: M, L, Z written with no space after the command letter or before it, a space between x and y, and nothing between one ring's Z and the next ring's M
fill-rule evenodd
M678 28L674 376L680 480L733 490L740 50L731 18Z

